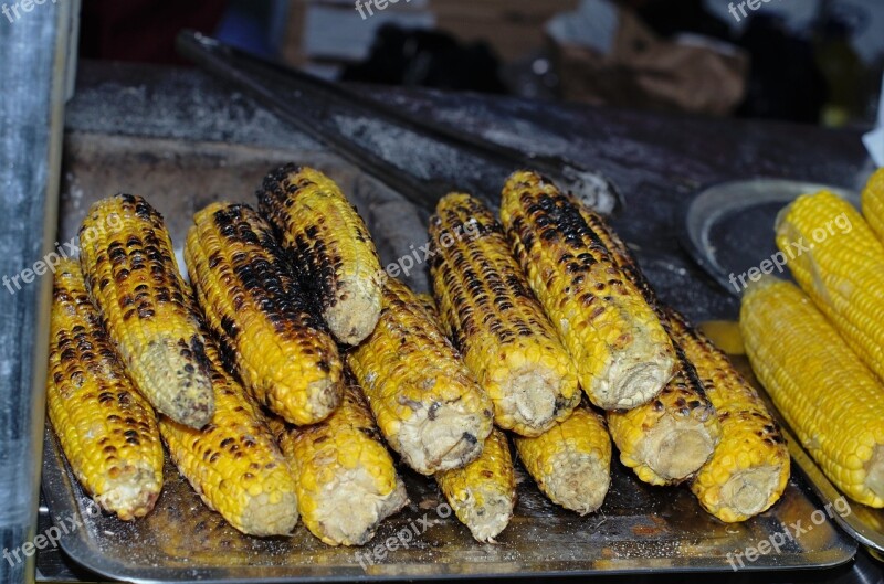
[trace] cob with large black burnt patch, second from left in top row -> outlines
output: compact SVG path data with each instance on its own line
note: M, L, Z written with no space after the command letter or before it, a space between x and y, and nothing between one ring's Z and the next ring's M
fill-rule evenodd
M213 203L193 221L185 246L190 279L246 389L293 424L328 416L340 402L338 350L270 226L232 203Z

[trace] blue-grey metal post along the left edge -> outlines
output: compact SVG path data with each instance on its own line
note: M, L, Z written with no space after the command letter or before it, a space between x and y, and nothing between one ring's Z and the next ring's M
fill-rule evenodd
M23 270L53 249L71 25L69 2L31 9L0 22L0 548L20 554L0 561L3 583L34 574L20 548L36 525L52 283Z

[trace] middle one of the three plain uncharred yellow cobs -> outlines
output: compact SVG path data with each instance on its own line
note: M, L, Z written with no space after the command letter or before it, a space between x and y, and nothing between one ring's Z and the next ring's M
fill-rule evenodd
M869 224L850 203L822 191L780 213L777 245L790 255L801 288L884 380L884 244Z

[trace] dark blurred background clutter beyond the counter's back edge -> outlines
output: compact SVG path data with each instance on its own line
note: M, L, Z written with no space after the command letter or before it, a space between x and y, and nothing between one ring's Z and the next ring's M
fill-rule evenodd
M181 28L325 78L874 125L882 0L82 0L83 59L183 63Z

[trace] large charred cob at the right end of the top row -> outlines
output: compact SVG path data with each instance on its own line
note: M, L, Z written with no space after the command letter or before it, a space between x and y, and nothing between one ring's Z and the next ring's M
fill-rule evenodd
M674 373L672 342L570 198L534 172L516 172L501 216L592 403L628 410L660 393Z

